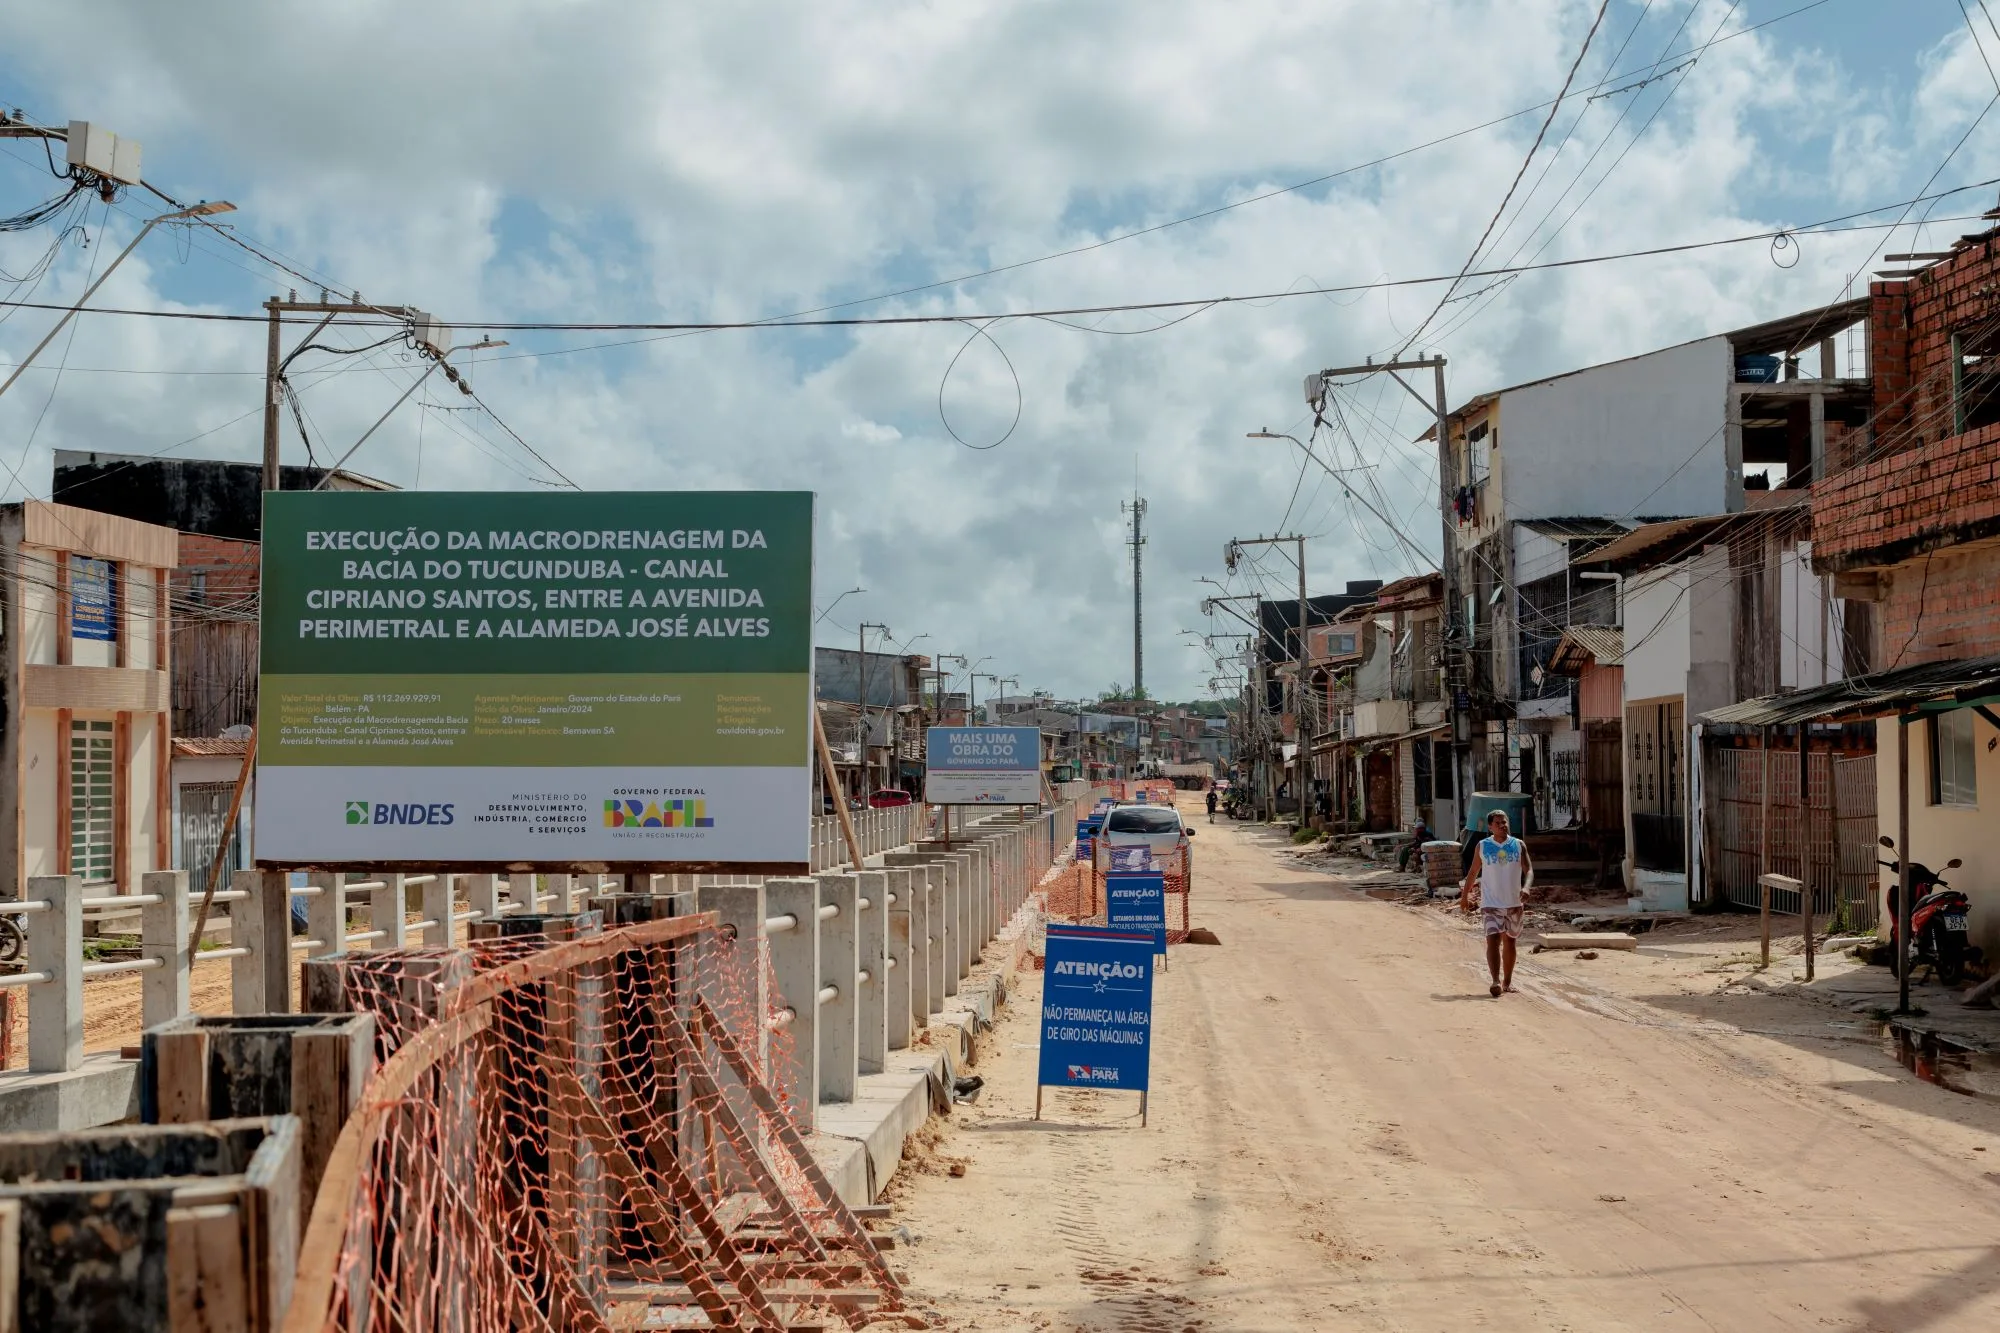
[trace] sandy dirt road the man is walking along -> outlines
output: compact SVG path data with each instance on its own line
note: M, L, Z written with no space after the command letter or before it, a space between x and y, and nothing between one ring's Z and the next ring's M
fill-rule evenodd
M1752 1035L1594 993L1196 841L1196 925L1136 1097L1034 1107L1038 977L978 1105L892 1183L896 1251L956 1329L2000 1327L2000 1107L1866 1041ZM940 1165L962 1161L952 1177Z

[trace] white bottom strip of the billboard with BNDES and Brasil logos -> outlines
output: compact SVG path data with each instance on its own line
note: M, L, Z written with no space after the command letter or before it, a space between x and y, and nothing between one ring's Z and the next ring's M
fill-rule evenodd
M810 803L806 769L258 769L256 857L802 863Z

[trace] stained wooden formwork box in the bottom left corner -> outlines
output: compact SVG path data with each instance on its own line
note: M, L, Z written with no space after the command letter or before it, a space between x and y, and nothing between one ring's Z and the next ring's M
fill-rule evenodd
M278 1329L298 1139L290 1115L0 1135L0 1329Z

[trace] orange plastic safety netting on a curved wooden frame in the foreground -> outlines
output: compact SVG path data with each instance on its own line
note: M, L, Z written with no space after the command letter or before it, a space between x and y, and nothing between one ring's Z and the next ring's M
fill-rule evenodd
M382 1065L286 1327L922 1327L768 1081L766 961L712 917L592 917L316 965Z

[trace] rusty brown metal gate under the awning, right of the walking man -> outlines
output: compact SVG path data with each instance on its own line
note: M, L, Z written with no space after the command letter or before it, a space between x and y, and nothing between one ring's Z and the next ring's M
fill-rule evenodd
M1762 753L1716 747L1708 753L1712 873L1734 907L1758 907L1764 787ZM1874 755L1808 757L1800 871L1798 751L1770 753L1770 871L1812 885L1812 907L1834 929L1868 931L1876 923L1876 761ZM1798 915L1798 893L1774 893L1774 913Z

